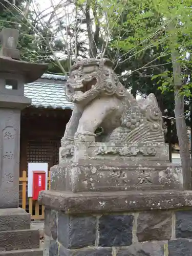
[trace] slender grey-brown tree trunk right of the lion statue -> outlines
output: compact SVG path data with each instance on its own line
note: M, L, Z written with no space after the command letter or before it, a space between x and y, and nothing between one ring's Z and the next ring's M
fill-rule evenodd
M181 164L183 168L183 183L184 189L190 190L191 188L191 161L189 153L189 141L187 137L187 127L184 116L184 100L180 92L183 80L181 75L181 65L179 61L179 52L175 49L172 50L173 62L173 77L175 85L175 116L177 136L179 140Z

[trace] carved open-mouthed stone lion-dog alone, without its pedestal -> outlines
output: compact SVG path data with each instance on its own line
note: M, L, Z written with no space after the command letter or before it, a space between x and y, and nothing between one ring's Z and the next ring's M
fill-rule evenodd
M109 59L86 59L71 69L66 86L75 108L61 144L74 136L93 135L98 142L164 142L162 116L154 94L138 102L120 83ZM64 152L63 152L64 153Z

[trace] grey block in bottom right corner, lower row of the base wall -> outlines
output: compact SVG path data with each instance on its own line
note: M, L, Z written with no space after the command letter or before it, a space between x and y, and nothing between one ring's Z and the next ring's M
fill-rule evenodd
M168 241L168 256L191 256L192 241L177 239Z

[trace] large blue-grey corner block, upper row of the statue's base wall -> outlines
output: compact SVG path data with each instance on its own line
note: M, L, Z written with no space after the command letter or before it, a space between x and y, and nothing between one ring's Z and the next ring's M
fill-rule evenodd
M95 245L96 217L58 213L58 241L66 248Z

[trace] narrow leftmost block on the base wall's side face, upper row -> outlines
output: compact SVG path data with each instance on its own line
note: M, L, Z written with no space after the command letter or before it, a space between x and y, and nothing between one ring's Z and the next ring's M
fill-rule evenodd
M45 234L52 237L53 240L57 239L57 212L49 208L45 208Z

